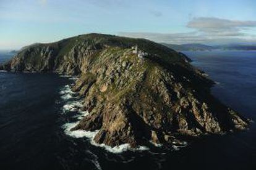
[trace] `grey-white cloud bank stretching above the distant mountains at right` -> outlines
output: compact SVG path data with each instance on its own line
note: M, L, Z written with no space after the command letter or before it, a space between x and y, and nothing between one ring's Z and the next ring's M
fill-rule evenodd
M194 31L187 33L147 33L121 32L119 35L132 38L146 38L156 42L170 44L204 43L223 44L229 42L256 42L256 35L244 33L248 28L256 27L256 21L226 20L221 18L192 18L187 28Z

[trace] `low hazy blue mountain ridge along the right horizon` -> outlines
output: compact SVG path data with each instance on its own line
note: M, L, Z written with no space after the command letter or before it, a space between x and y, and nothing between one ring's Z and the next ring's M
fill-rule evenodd
M241 51L250 51L256 50L256 45L245 45L245 44L225 44L218 46L208 46L205 44L168 44L161 43L166 47L174 49L176 51L213 51L213 50L241 50Z

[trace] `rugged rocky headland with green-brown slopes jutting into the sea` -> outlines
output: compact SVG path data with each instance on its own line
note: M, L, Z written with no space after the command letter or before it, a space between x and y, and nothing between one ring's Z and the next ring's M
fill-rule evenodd
M147 56L132 51L137 45ZM79 75L73 90L90 114L72 130L100 130L95 142L135 147L245 129L247 121L210 94L213 82L184 54L145 39L87 34L19 52L0 69Z

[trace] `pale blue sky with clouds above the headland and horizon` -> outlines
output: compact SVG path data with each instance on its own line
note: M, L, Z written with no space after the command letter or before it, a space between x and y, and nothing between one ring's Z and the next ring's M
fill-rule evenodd
M255 0L0 0L0 49L86 33L256 44Z

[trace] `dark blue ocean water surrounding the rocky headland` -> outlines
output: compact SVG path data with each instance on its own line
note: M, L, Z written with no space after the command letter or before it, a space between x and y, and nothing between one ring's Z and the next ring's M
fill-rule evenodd
M256 52L185 52L218 82L213 94L256 118ZM0 62L10 55L0 53ZM72 79L53 74L0 72L0 169L256 169L256 127L190 141L180 150L110 153L86 137L67 136L63 125L79 99L68 94Z

